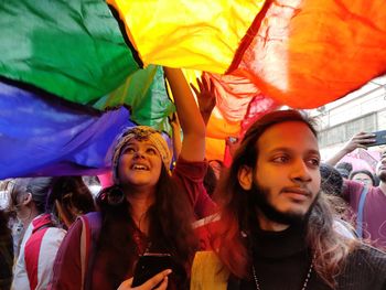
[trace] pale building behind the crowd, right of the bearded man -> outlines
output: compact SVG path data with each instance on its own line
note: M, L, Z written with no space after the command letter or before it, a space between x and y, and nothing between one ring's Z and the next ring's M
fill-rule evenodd
M311 110L319 119L322 159L334 154L350 138L360 132L386 130L386 75L374 78L358 90ZM386 146L369 148L382 151Z

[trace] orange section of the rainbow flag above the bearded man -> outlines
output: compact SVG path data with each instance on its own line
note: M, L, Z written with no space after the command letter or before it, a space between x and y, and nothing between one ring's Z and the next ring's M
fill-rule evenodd
M385 19L383 0L271 1L232 74L279 104L317 108L386 73Z

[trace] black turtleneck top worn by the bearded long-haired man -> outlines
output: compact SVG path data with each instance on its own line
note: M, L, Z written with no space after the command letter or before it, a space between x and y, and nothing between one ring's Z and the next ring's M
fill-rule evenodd
M311 265L305 245L305 225L291 225L281 232L254 228L249 234L250 253L261 290L301 290ZM251 270L250 270L251 272ZM386 290L385 254L362 245L346 258L336 290ZM239 280L229 277L227 290L255 290L254 278ZM331 290L312 270L307 290Z

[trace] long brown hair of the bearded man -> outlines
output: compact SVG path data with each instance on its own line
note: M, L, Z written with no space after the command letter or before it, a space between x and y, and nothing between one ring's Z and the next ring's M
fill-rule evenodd
M238 278L249 278L251 269L248 239L243 237L242 232L250 233L257 223L253 202L253 194L256 193L245 191L240 186L238 172L244 165L256 168L258 139L271 126L287 121L305 123L317 137L313 120L297 110L279 110L264 116L246 132L232 167L224 174L215 192L223 210L219 228L212 244L223 264ZM305 239L315 257L313 264L315 271L334 288L335 277L356 243L334 232L332 210L323 194L319 194L310 213Z

